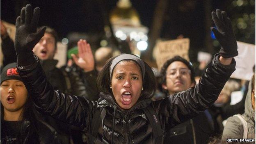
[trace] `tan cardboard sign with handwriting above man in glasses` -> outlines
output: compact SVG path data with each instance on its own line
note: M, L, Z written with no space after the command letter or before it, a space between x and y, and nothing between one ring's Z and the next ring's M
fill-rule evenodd
M168 60L178 55L184 59L188 58L188 49L190 47L190 39L175 39L171 41L160 41L156 44L156 63L158 70L161 69L162 65Z

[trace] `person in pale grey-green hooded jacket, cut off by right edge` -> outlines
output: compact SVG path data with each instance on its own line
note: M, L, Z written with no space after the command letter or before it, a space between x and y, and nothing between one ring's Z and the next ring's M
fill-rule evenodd
M242 138L255 139L255 72L249 83L245 113L229 117L223 130L222 142L226 142L227 139Z

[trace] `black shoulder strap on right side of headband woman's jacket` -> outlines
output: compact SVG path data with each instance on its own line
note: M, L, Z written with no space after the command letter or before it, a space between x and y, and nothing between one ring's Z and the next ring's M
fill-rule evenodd
M153 110L151 105L143 108L143 111L146 114L146 117L149 119L152 127L153 139L155 144L162 144L163 140L163 133L161 123L158 119L158 114Z

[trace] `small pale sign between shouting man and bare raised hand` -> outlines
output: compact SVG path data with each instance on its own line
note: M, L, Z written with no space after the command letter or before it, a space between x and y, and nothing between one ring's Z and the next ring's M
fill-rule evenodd
M57 42L57 53L54 55L53 59L57 59L59 62L56 67L60 68L66 64L67 59L67 45Z

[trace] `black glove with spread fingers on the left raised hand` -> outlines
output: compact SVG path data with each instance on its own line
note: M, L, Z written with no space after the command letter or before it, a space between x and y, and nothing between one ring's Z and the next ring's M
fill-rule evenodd
M37 30L40 9L36 7L32 16L30 4L21 9L21 16L16 19L15 50L18 56L17 63L27 66L34 62L32 49L43 37L46 27Z

